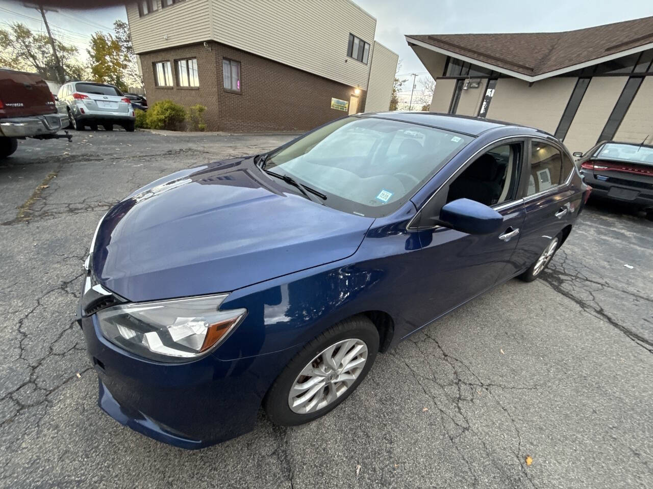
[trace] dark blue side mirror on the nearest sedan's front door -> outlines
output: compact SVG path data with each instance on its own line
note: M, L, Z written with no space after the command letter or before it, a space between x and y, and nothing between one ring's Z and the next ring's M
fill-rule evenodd
M439 221L462 233L490 234L501 227L503 216L475 200L457 199L442 207Z

